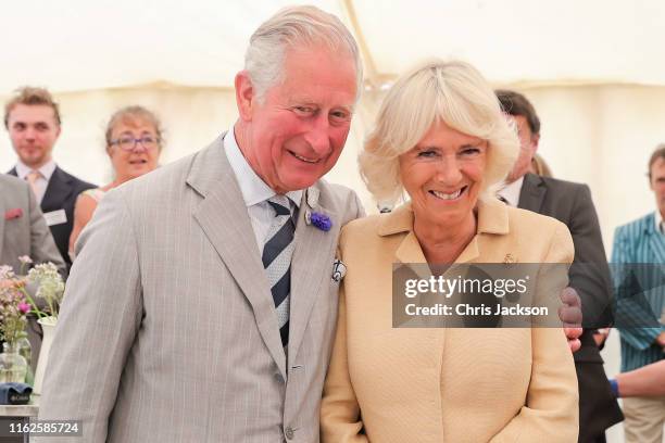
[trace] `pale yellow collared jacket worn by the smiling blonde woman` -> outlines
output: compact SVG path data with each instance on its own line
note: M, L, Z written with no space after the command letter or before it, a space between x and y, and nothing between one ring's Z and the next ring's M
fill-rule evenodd
M393 263L425 263L409 205L342 229L347 266L324 388L322 439L337 442L576 442L577 379L561 328L392 328ZM572 263L554 218L478 204L457 263ZM364 434L359 434L364 428Z

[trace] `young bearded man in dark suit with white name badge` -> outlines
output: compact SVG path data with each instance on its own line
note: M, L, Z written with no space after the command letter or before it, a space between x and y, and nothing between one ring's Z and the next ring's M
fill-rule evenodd
M80 192L96 186L65 173L53 162L51 152L60 136L60 112L46 89L18 89L4 106L4 127L18 155L16 166L9 174L30 185L68 267L74 204Z

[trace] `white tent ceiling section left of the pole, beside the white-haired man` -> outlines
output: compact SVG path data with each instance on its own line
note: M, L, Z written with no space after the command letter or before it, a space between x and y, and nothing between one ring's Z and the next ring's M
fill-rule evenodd
M251 33L291 3L3 2L0 36L13 43L0 53L0 93L25 84L47 85L54 91L154 84L230 88ZM334 0L315 3L332 13L341 12Z

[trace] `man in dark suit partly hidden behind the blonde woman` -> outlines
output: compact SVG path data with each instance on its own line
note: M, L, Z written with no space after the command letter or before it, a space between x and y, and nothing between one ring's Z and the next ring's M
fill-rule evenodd
M512 206L549 215L566 224L573 235L575 262L569 284L582 300L581 347L574 354L579 384L579 442L604 442L605 429L622 421L623 415L612 394L603 359L594 340L595 328L612 322L610 269L591 192L587 185L527 174L538 149L540 121L531 103L522 94L497 91L503 110L513 116L519 131L520 153L499 197Z

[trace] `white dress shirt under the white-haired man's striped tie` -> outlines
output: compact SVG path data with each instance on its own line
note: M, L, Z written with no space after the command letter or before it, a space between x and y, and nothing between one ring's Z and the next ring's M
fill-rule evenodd
M252 223L259 252L263 253L263 245L267 240L265 237L268 233L273 218L275 218L275 210L268 204L267 200L276 195L276 192L247 163L247 159L242 155L236 141L233 127L224 136L224 151L240 186L240 192L242 193L242 199ZM286 195L296 203L297 207L300 206L302 190L290 191Z

